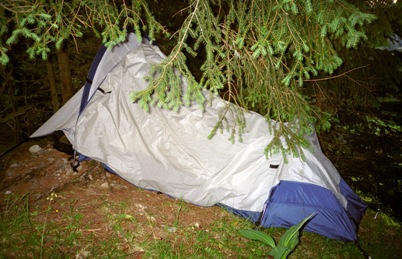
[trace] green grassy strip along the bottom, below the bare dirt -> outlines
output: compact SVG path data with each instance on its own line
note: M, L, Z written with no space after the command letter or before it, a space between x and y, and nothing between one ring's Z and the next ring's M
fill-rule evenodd
M0 211L0 258L261 258L270 247L239 234L253 228L249 221L230 214L209 225L184 223L182 213L191 210L173 202L175 215L160 223L150 208L130 199L101 201L88 207L88 217L77 201L51 195L31 208L29 195L9 195ZM96 215L96 216L94 216ZM398 258L400 227L367 211L359 229L360 245L371 258ZM264 232L276 242L286 229ZM343 243L303 232L300 245L289 258L364 258L354 243Z

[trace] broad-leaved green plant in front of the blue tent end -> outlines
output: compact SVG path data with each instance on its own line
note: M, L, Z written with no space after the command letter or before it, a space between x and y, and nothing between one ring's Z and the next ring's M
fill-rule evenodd
M275 259L284 259L287 258L299 244L300 229L315 215L316 213L312 213L299 224L290 227L281 237L278 244L275 244L275 240L270 235L260 230L241 229L239 232L249 239L261 241L271 246L273 249L269 251L269 255L272 255Z

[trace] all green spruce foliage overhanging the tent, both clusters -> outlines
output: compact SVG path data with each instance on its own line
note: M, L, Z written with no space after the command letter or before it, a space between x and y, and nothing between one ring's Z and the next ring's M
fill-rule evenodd
M0 30L0 61L8 62L7 50L20 38L32 42L27 50L30 57L46 58L51 46L59 48L67 38L81 37L88 28L108 47L123 41L129 27L138 37L141 31L147 31L151 39L156 32L167 35L150 11L157 3L146 2L2 1L0 21L7 26ZM221 94L228 103L209 137L228 129L232 141L236 136L241 140L242 114L252 110L265 116L274 135L266 155L302 155L301 147L308 147L304 136L331 126L331 114L308 97L306 80L336 73L345 63L339 51L356 48L366 40L367 25L376 16L344 0L188 2L188 8L181 10L188 15L174 35L176 45L166 60L153 67L149 88L133 93L133 100L145 110L149 106L178 110L193 102L202 109L210 98ZM186 60L201 51L205 58L197 79Z

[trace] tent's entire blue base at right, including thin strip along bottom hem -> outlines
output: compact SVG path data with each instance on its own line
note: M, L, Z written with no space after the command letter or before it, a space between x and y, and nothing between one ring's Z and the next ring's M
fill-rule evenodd
M342 194L348 199L347 209L343 208L328 189L292 181L281 181L272 189L263 212L239 211L221 206L264 228L289 228L310 214L317 213L304 231L340 241L355 241L357 228L367 206L344 180L341 180L340 186Z

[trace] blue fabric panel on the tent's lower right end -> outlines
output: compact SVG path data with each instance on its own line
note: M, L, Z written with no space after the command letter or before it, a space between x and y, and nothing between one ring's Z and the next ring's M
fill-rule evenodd
M317 185L281 181L272 190L266 212L261 222L263 226L291 227L317 213L314 220L306 225L306 231L320 229L334 239L356 239L355 223L350 220L347 211L328 189Z

